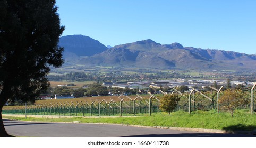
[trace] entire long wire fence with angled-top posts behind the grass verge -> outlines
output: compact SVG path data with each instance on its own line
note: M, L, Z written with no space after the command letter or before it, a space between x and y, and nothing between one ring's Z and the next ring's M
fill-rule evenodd
M192 88L190 92L180 92L176 89L172 94L177 93L180 101L177 103L177 110L193 112L195 110L212 110L216 109L219 113L218 99L223 95L223 87L218 89L210 87L211 90L197 90ZM243 96L246 101L237 107L237 109L251 109L253 113L256 105L254 99L254 88L244 87ZM162 91L163 92L163 91ZM167 93L163 92L163 95ZM157 96L159 97L159 95ZM120 100L105 99L76 102L58 102L48 104L37 104L30 106L4 107L2 114L28 114L28 115L58 115L58 116L138 116L161 112L159 105L160 100L151 95L150 98L143 98L137 95L136 98L120 98ZM160 98L160 97L159 97Z

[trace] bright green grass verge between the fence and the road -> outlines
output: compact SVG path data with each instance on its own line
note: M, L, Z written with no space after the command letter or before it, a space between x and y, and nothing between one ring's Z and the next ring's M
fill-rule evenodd
M256 115L251 115L249 110L237 110L232 118L229 113L217 114L216 110L196 111L191 114L183 111L174 112L169 116L167 113L153 113L152 116L125 117L125 118L27 118L7 117L23 121L44 122L73 122L81 123L112 123L142 126L164 126L164 127L189 127L222 130L254 130L256 129Z

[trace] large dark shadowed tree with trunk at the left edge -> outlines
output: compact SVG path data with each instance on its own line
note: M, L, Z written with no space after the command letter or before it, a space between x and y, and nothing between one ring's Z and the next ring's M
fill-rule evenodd
M50 66L63 63L64 31L55 0L0 0L0 109L8 99L35 101L49 82ZM5 131L2 114L0 136Z

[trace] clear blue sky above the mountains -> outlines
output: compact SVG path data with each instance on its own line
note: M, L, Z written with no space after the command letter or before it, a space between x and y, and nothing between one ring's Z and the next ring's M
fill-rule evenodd
M112 47L160 44L256 53L256 1L57 0L65 31Z

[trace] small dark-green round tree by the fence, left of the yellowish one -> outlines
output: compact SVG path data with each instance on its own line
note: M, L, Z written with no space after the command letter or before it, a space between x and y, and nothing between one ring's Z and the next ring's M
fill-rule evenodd
M164 112L168 112L170 115L170 112L172 112L176 106L177 102L180 100L178 98L178 95L173 94L173 95L165 95L161 97L160 99L160 109L163 110Z

